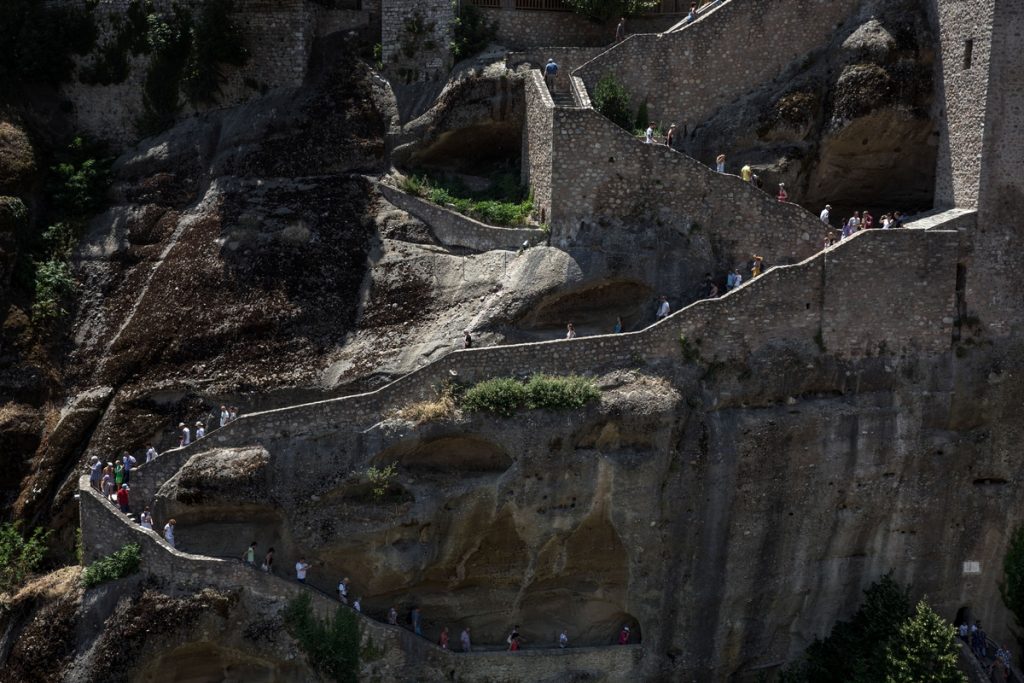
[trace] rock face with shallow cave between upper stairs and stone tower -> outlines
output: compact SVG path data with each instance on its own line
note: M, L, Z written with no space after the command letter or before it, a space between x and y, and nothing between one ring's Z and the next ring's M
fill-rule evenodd
M684 148L750 164L765 187L839 220L928 209L935 182L934 48L919 0L864 3L819 54L699 125Z

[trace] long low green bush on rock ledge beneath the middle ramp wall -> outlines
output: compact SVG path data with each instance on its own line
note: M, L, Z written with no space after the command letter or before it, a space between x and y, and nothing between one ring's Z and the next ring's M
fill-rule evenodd
M594 381L579 375L534 375L525 383L511 377L479 382L466 389L460 403L470 413L512 417L522 409L564 411L601 397Z

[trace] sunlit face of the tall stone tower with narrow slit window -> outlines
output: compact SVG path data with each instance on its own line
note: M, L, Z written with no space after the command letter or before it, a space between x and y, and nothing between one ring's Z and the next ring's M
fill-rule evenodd
M930 0L939 36L935 65L940 132L935 205L939 207L978 205L993 7L992 0ZM967 40L973 41L970 69L964 65Z

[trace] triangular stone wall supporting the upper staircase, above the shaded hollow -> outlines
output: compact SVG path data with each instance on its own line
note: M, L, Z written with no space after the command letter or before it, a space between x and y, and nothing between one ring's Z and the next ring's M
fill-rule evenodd
M645 144L593 109L556 109L553 143L553 241L574 239L581 223L599 217L699 230L726 263L752 254L792 263L821 245L820 222L800 206L664 144Z

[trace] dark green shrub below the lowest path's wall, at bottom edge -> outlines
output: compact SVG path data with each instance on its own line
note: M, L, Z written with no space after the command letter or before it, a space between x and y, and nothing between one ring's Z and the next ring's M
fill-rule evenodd
M357 683L361 636L351 610L338 607L334 618L319 620L309 594L303 593L286 607L285 625L313 669L339 683Z

